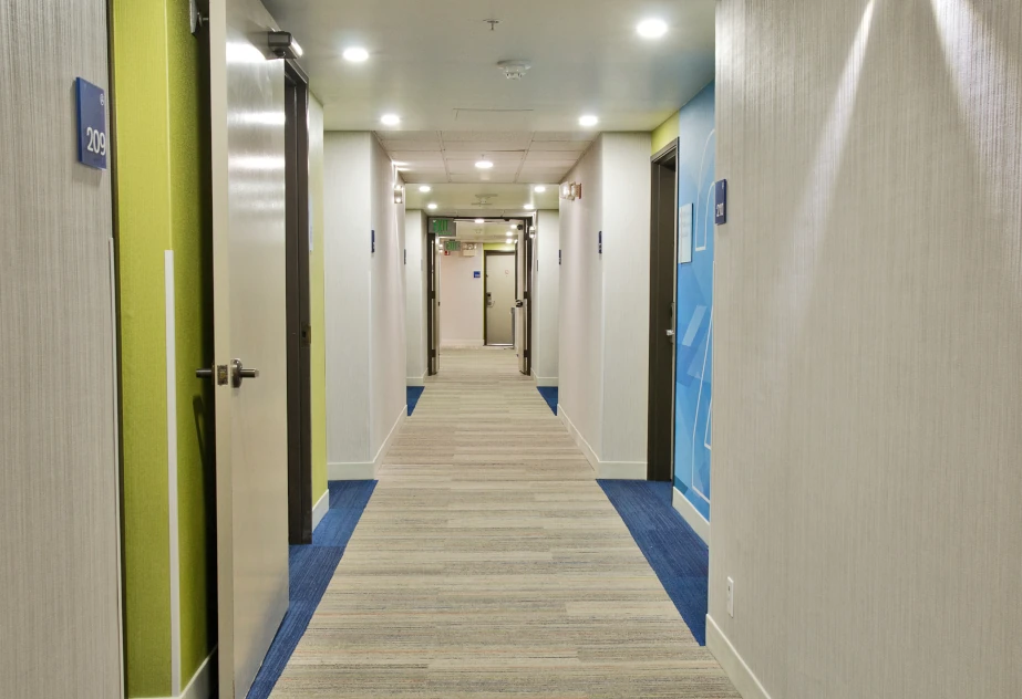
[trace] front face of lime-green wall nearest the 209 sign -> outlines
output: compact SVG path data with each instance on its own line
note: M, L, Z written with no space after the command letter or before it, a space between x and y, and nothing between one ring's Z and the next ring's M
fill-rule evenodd
M164 250L171 242L166 20L112 7L128 697L171 693ZM163 80L154 75L163 73ZM162 136L162 137L161 137Z

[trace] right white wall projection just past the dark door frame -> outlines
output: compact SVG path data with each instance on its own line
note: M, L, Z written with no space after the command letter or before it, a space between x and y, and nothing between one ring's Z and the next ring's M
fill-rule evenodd
M560 413L601 478L646 478L650 148L601 135L561 200Z

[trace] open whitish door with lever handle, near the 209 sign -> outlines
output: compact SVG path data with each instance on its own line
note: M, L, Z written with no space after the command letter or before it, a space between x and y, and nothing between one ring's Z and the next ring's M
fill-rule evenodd
M285 97L271 29L259 0L210 3L221 699L248 692L288 608ZM237 385L235 359L258 377Z

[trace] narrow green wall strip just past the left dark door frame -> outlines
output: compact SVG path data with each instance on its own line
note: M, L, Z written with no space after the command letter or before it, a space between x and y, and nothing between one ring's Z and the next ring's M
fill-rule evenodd
M312 323L312 503L327 492L327 332L323 301L323 107L309 97L309 202L312 253L309 305Z

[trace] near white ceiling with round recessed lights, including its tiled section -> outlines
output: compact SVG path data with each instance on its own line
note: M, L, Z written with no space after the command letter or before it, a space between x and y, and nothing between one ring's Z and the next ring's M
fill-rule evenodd
M406 180L558 182L598 132L652 131L713 80L714 0L265 1L304 50L326 128L376 131ZM637 34L650 17L664 38ZM350 46L369 61L345 62ZM531 69L509 81L502 60Z

